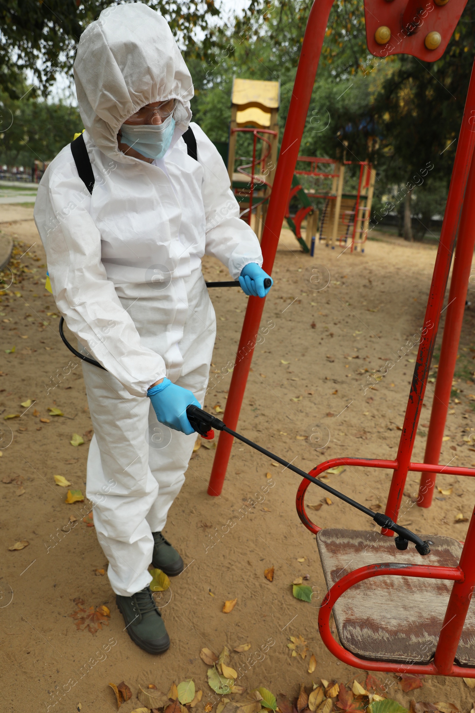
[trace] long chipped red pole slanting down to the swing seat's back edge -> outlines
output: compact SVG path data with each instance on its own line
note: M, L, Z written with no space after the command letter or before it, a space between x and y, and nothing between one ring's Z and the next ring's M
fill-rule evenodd
M432 284L427 301L427 309L422 327L422 336L419 342L419 352L417 353L416 366L412 376L409 401L407 402L406 414L400 444L397 451L398 466L392 474L390 493L387 498L385 513L397 522L402 493L407 477L407 469L414 447L414 438L419 424L422 401L429 376L429 367L434 352L437 329L439 327L444 295L449 279L451 256L454 252L454 243L457 230L459 229L462 205L466 183L469 176L471 159L475 145L475 71L472 68L469 84L469 91L466 97L464 117L461 123L459 143L457 145L454 168L450 180L449 195L444 214L444 222L439 240L439 249L432 275ZM403 347L404 349L404 347ZM392 536L392 531L384 530L385 535Z

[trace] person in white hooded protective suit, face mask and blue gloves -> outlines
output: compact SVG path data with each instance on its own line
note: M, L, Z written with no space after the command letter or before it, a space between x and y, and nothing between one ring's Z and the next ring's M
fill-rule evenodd
M132 640L160 653L169 637L147 568L183 570L162 530L195 441L185 409L203 404L216 334L201 258L221 260L246 294L264 297L268 276L218 151L190 126L192 78L165 19L142 4L106 9L80 38L74 75L93 183L66 146L35 220L58 309L106 369L83 362L86 493L110 584Z

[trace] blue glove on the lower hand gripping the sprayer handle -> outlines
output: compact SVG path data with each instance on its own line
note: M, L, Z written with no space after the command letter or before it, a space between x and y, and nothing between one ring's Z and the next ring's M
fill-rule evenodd
M152 386L147 391L153 410L161 424L169 426L174 431L182 431L187 436L194 434L187 419L187 406L193 404L201 409L201 404L191 391L182 386L172 384L169 379L163 379L161 384Z

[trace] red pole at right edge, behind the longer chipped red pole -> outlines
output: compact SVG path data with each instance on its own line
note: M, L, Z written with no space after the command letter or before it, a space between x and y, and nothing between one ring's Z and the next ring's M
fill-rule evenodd
M449 305L445 320L439 370L435 384L434 401L427 435L424 463L439 463L444 437L447 409L454 378L455 362L459 349L461 325L464 319L466 291L469 286L471 259L475 245L475 160L472 160L467 183L464 210L462 210L459 238L457 240L454 269L450 282ZM424 473L419 486L417 505L429 508L434 493L435 473Z

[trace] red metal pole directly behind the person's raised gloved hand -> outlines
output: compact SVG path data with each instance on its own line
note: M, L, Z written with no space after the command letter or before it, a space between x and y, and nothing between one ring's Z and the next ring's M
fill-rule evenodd
M303 36L301 56L298 61L296 81L293 85L291 104L288 109L286 128L283 132L281 153L278 158L276 175L273 180L271 198L263 227L261 250L263 269L271 274L276 257L278 239L281 235L283 218L286 210L288 193L291 190L293 171L296 168L303 129L305 128L308 107L312 96L313 83L317 73L318 60L325 39L325 30L333 0L315 0L308 16L305 35ZM239 340L236 365L234 366L229 395L224 410L224 422L233 431L239 419L242 399L246 389L247 377L251 366L252 354L256 344L256 335L261 324L264 299L249 297L244 317L244 324ZM219 434L213 469L209 478L208 494L218 496L223 488L226 468L231 456L232 436L221 431Z

